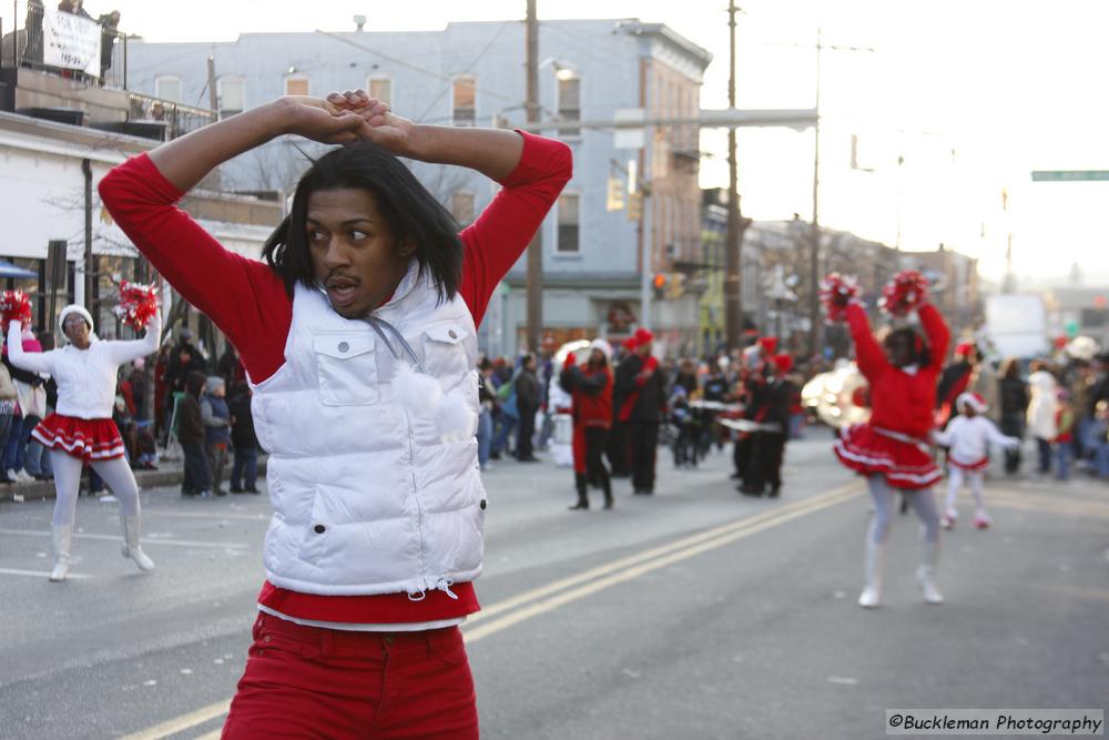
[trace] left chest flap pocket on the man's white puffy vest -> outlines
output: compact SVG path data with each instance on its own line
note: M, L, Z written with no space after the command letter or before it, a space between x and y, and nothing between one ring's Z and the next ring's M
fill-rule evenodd
M317 334L312 339L325 406L376 404L377 357L367 334Z

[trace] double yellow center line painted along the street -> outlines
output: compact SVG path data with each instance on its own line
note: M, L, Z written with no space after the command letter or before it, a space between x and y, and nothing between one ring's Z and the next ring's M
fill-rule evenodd
M813 511L818 511L849 500L858 495L862 489L862 485L858 481L853 481L844 486L833 488L832 490L818 496L802 499L800 501L793 501L786 504L785 506L776 507L770 511L730 521L726 525L713 527L712 529L708 529L690 537L683 537L682 539L668 545L654 547L650 550L644 550L642 553L621 558L606 566L593 568L568 578L562 578L530 591L525 591L523 594L519 594L512 598L485 607L477 615L471 615L467 618L467 627L471 622L478 621L479 617L496 616L530 601L536 601L537 599L543 600L523 609L519 609L518 611L501 617L500 619L495 619L490 622L484 624L476 629L466 629L464 631L464 637L466 642L475 642L481 638L508 629L513 625L531 619L532 617L553 611L560 606L577 601L591 594L609 588L610 586L632 580L653 570L658 570L659 568L664 568L669 565L673 565L674 562L680 562L695 555L700 555L733 543L737 539L742 539L743 537L749 537L765 529L770 529L771 527L776 527L780 524L796 519L806 514L812 514ZM573 588L580 584L584 585L579 588ZM559 594L559 591L562 592ZM557 596L551 596L554 594L557 594ZM550 598L545 599L543 597ZM204 707L203 709L190 712L189 714L182 714L181 717L167 720L135 734L130 734L123 738L123 740L161 740L162 738L167 738L171 734L182 732L192 727L196 727L215 719L221 714L225 714L230 707L231 699L218 701L214 704ZM215 740L218 737L220 731L213 731L202 736L197 740Z

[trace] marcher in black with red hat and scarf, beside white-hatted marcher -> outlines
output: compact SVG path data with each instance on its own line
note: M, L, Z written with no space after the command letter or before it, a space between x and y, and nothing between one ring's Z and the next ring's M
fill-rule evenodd
M651 354L654 335L645 328L635 331L635 354L629 363L624 386L620 389L621 420L628 422L631 448L632 493L654 493L654 466L659 452L659 424L667 403L667 378L659 361Z

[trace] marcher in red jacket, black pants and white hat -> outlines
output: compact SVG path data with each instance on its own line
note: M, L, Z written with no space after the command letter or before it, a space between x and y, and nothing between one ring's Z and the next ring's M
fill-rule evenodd
M589 361L579 366L573 354L566 358L559 384L571 395L573 415L573 483L578 500L571 510L589 508L589 481L597 480L604 491L604 508L611 509L612 481L604 467L609 427L612 425L612 347L604 339L593 339Z

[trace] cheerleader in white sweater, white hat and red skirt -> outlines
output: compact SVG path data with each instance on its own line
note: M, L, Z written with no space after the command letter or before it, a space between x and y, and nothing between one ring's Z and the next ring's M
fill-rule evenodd
M112 420L112 409L120 365L157 351L162 320L154 311L146 335L131 342L99 339L93 334L92 316L79 305L62 308L58 325L69 344L43 353L24 353L20 322L12 321L8 325L8 357L11 364L32 373L48 373L58 384L55 413L31 433L50 449L50 465L54 474L54 567L50 580L65 580L69 572L70 539L77 517L81 469L85 464L104 479L120 499L123 557L134 560L140 570L152 570L154 562L139 546L139 486L123 457L123 439Z

